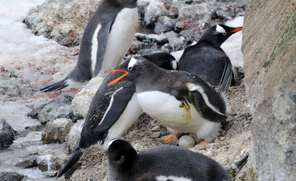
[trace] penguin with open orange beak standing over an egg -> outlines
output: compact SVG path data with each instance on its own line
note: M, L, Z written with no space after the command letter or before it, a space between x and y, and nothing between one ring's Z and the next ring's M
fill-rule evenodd
M173 133L163 138L165 143L178 144L182 133L196 133L204 139L200 145L205 145L220 134L221 122L227 118L231 64L225 67L217 92L198 76L184 71L166 71L141 56L134 56L105 72L117 71L124 75L109 85L118 81L132 81L136 85L142 110Z

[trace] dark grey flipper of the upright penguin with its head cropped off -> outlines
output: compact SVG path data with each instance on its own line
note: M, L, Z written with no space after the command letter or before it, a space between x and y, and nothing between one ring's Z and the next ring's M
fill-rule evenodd
M102 68L102 65L104 63L106 49L107 49L107 40L108 40L110 28L111 28L111 22L109 24L105 24L104 26L102 26L98 32L97 58L96 58L96 64L95 64L94 71L93 71L93 77L96 77L99 74L99 72ZM116 51L116 50L114 50L114 51ZM116 53L116 52L114 52L114 53Z

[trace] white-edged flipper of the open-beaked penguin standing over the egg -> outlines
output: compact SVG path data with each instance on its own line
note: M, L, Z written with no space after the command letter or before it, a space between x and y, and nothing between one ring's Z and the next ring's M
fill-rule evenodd
M206 120L221 123L226 120L227 116L220 113L208 99L208 95L205 94L201 87L197 87L195 90L189 91L189 98L186 98L196 108L198 113Z

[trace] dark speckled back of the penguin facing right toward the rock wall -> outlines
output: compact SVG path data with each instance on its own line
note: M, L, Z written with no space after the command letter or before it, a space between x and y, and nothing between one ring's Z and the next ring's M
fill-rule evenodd
M179 70L196 75L212 86L218 86L226 63L231 64L231 61L222 48L208 42L198 42L185 48L179 60Z

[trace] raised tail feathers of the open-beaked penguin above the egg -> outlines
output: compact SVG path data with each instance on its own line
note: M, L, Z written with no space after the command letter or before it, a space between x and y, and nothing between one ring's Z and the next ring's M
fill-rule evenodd
M219 95L222 96L222 98L226 99L229 86L231 83L231 76L232 76L232 65L231 63L226 64L224 68L223 75L221 77L221 81L219 83L219 86L217 88L217 92Z

